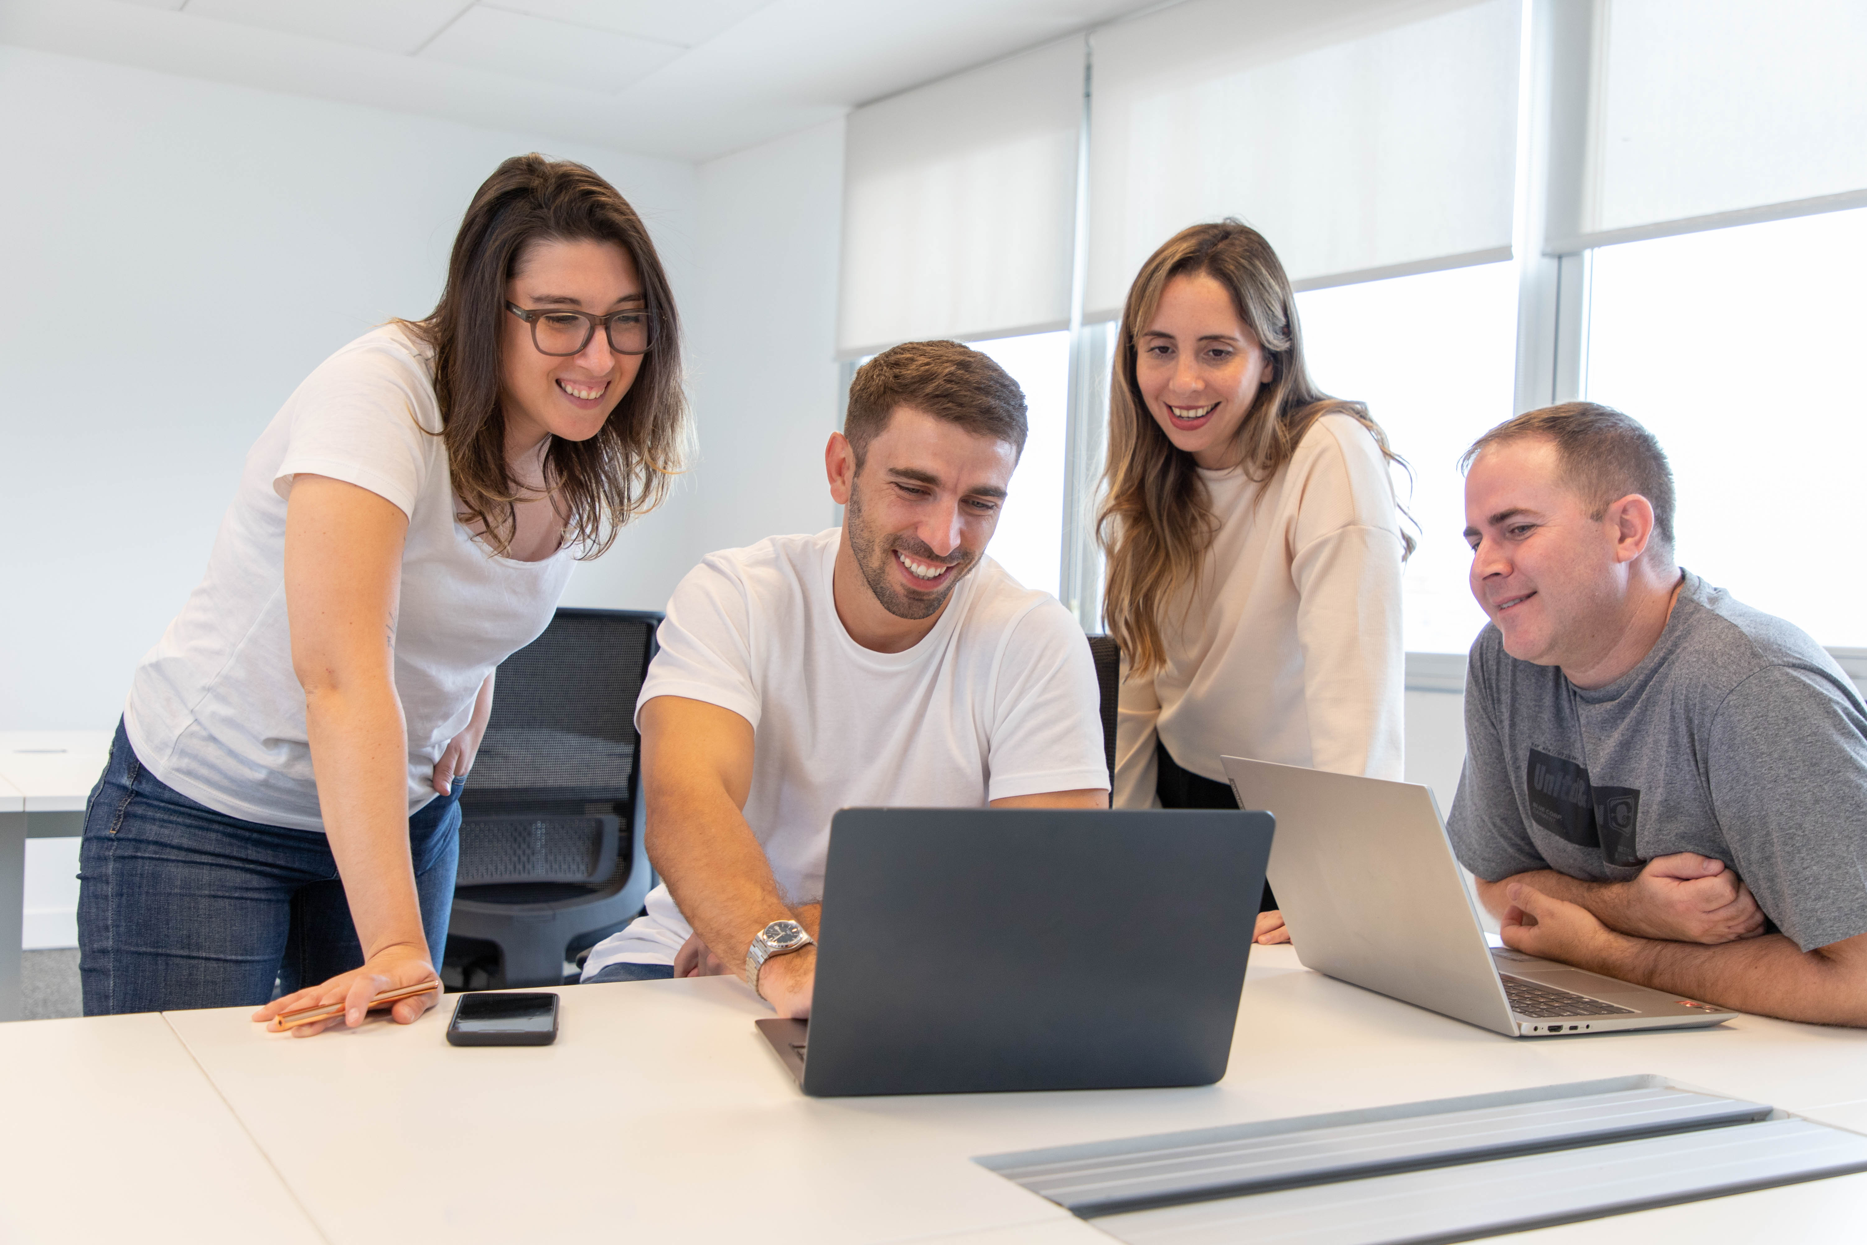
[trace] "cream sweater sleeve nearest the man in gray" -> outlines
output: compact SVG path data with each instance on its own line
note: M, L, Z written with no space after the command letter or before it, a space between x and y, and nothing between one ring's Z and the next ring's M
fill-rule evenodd
M1311 442L1314 452L1303 454ZM1316 769L1398 780L1402 545L1387 461L1361 424L1324 416L1292 469L1303 470L1294 482L1290 575L1311 760Z

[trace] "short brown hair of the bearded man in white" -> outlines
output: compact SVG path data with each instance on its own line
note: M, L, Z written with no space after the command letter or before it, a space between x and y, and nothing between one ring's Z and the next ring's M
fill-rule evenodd
M896 407L924 411L1025 452L1025 392L990 355L958 342L905 342L857 370L842 420L857 470Z

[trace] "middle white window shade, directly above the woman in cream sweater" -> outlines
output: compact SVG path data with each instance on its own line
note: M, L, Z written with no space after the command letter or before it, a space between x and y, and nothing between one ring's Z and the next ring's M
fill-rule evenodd
M1088 315L1223 217L1299 287L1509 258L1520 7L1189 0L1096 32Z

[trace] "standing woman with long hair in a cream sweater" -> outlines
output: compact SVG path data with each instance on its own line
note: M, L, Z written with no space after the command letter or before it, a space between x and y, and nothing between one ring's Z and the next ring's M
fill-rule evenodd
M1236 220L1176 233L1122 308L1098 538L1122 646L1116 808L1234 808L1221 756L1400 776L1395 455L1320 392L1296 297ZM1266 888L1256 937L1288 933Z

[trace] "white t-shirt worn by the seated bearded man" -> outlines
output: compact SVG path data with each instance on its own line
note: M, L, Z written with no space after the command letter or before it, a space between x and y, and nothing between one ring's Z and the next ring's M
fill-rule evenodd
M838 538L773 536L708 556L668 601L637 700L687 696L752 724L745 819L793 903L823 894L838 808L982 808L1109 786L1096 666L1055 597L982 558L919 644L876 653L836 616ZM655 887L646 915L590 952L584 976L672 963L689 933Z

